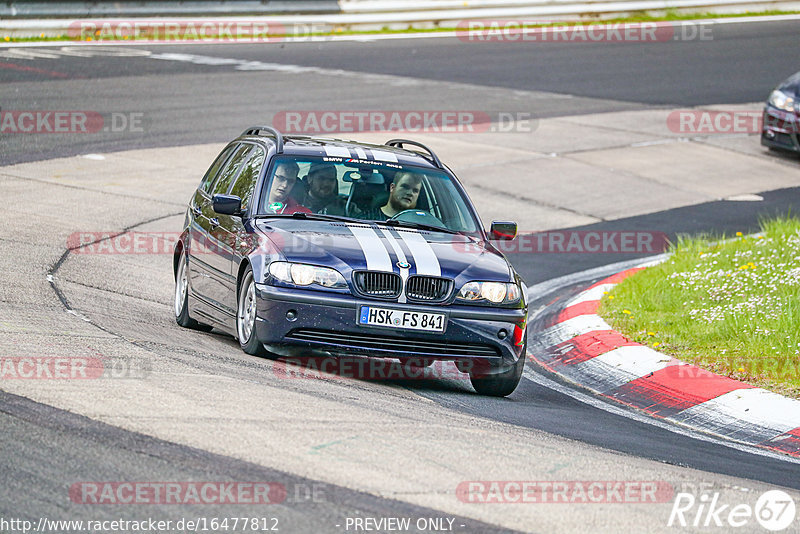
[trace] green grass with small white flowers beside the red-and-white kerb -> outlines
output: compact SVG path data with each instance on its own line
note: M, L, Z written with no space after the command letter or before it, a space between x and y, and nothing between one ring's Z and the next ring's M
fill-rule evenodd
M600 315L670 356L800 398L800 220L761 228L680 239L666 262L605 295Z

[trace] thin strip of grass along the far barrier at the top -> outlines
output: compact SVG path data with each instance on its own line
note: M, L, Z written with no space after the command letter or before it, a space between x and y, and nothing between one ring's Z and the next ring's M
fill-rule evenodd
M598 19L598 20L576 20L576 21L555 21L552 23L543 23L543 24L523 24L522 26L525 28L544 28L544 27L552 27L552 26L579 26L579 25L590 25L590 24L624 24L624 23L637 23L637 22L669 22L669 21L689 21L689 20L704 20L704 19L722 19L722 18L737 18L737 17L767 17L767 16L781 16L781 15L797 15L800 14L800 11L780 11L780 10L765 10L765 11L748 11L745 13L711 13L711 12L695 12L695 13L679 13L675 10L668 10L663 15L651 15L648 12L642 11L635 14L631 14L625 17L616 17L616 18L609 18L609 19ZM101 20L101 19L98 19ZM408 28L398 29L398 28L389 28L384 27L380 30L351 30L347 27L338 27L334 28L333 31L330 32L311 32L311 33L303 33L299 37L302 39L311 39L311 38L322 38L322 37L330 37L336 35L384 35L384 34L413 34L413 33L441 33L441 32L455 32L461 30L463 28L457 28L455 26L438 26L435 28L415 28L413 25L409 26ZM243 41L252 41L252 40L281 40L281 39L291 39L293 37L298 37L294 34L256 34L256 35L241 35L238 38L242 39ZM232 38L235 40L236 38ZM28 37L14 37L12 35L3 35L0 44L2 43L27 43L27 42L39 42L39 41L64 41L64 42L75 42L75 41L147 41L148 36L143 35L140 37L128 37L125 36L124 38L117 37L115 35L103 35L100 31L97 32L97 35L94 37L83 37L81 36L78 38L77 36L70 36L70 35L45 35L41 34L38 36L28 36ZM190 41L202 41L203 39L191 39L191 38L183 38L183 39L175 39L176 41L184 40L187 42ZM215 39L210 39L214 41ZM226 37L226 40L229 40Z

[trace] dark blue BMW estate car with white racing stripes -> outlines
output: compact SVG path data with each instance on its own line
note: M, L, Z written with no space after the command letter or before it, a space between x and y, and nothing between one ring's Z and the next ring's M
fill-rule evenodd
M194 192L174 253L179 325L248 354L452 361L509 395L525 365L525 285L426 146L252 127Z

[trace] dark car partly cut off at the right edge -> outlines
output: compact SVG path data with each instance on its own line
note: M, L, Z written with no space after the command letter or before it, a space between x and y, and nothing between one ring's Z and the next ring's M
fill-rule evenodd
M781 82L764 105L761 144L770 150L800 153L800 72Z

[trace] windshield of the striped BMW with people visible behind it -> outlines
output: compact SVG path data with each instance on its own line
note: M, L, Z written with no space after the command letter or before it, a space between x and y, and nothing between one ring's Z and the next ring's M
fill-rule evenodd
M479 223L442 171L341 157L280 156L259 215L323 214L472 234Z

